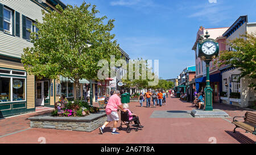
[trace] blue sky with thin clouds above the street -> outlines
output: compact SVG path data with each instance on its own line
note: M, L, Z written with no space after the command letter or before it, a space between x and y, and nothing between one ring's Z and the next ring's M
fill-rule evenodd
M61 0L81 5L84 0ZM98 16L115 19L112 33L131 59L159 60L159 76L176 78L195 65L192 46L200 26L229 27L241 15L256 22L255 0L86 0Z

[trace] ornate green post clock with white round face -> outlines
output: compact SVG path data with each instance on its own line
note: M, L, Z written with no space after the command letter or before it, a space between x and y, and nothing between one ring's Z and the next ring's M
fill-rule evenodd
M206 87L204 89L204 100L205 100L205 111L213 111L212 108L212 89L210 88L210 76L209 76L209 64L210 61L213 60L216 56L218 56L218 43L213 39L208 39L210 35L208 35L208 31L206 32L207 39L200 40L197 44L197 53L198 57L201 60L205 61L206 68L207 68L207 79L206 79Z

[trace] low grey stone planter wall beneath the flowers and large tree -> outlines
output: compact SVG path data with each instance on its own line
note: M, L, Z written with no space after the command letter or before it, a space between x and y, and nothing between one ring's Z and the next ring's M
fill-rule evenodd
M35 116L28 118L32 128L50 128L69 131L92 132L106 121L106 113L98 112L85 117Z

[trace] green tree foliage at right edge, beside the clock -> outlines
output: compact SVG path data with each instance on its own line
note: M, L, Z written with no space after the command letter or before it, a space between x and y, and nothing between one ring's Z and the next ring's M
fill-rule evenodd
M256 90L256 37L254 35L241 35L234 40L229 40L233 51L220 52L219 61L221 65L230 64L241 71L240 78L247 76L250 87Z

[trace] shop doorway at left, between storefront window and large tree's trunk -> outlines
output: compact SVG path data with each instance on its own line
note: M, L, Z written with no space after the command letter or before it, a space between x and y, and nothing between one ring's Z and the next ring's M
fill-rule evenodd
M49 81L36 82L36 106L44 106L49 99Z

